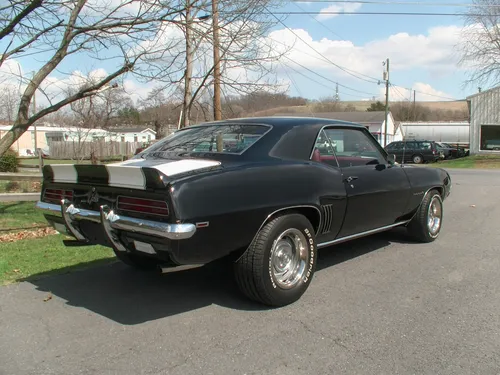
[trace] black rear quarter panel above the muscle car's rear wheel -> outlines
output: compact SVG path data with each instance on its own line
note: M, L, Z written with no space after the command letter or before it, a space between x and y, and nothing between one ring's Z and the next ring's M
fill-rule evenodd
M247 164L172 184L178 220L208 222L178 243L179 263L206 263L247 247L268 215L291 206L334 204L332 231L340 229L345 189L340 171L314 162Z

